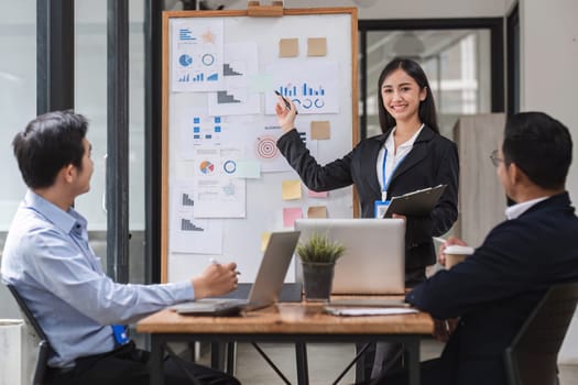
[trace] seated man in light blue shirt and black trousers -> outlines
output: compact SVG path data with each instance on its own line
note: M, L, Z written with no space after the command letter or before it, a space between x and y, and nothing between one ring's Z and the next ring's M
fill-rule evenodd
M105 275L88 243L87 221L74 208L90 187L92 161L80 114L56 111L30 122L13 140L29 191L10 227L2 280L12 284L46 333L51 384L144 384L148 352L114 336L130 323L176 302L237 287L236 264L210 264L189 282L117 284ZM189 384L168 360L167 384ZM204 384L238 384L223 373L187 363Z

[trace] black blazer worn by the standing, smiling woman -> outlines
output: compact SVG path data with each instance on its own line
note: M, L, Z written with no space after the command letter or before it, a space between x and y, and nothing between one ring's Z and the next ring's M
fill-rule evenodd
M320 166L310 156L296 130L277 140L277 147L303 183L314 191L328 191L355 184L363 218L374 217L381 199L377 174L378 154L390 131L366 139L346 156ZM424 268L436 261L432 235L449 230L457 219L459 162L456 144L424 127L412 151L392 175L388 198L447 184L438 205L427 217L408 217L405 231L405 268Z

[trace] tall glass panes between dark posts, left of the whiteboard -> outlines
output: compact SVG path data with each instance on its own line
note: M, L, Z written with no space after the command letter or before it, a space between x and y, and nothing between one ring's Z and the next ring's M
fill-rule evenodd
M129 222L130 282L144 282L144 1L129 2ZM88 219L95 252L106 266L107 213L107 2L75 1L75 106L85 114L90 128L95 173L90 193L80 196L76 208Z

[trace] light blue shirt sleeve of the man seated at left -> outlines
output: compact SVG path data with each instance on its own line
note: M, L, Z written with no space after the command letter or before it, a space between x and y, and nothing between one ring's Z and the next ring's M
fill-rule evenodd
M26 274L39 288L52 293L100 324L128 323L168 305L194 298L190 282L164 285L118 284L70 238L47 229L22 239Z

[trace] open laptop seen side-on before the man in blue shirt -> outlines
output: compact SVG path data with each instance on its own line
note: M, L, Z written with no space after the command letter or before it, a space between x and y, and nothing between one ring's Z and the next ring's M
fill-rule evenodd
M298 231L271 233L248 298L204 298L170 308L182 315L232 316L273 305L279 299L298 240Z

